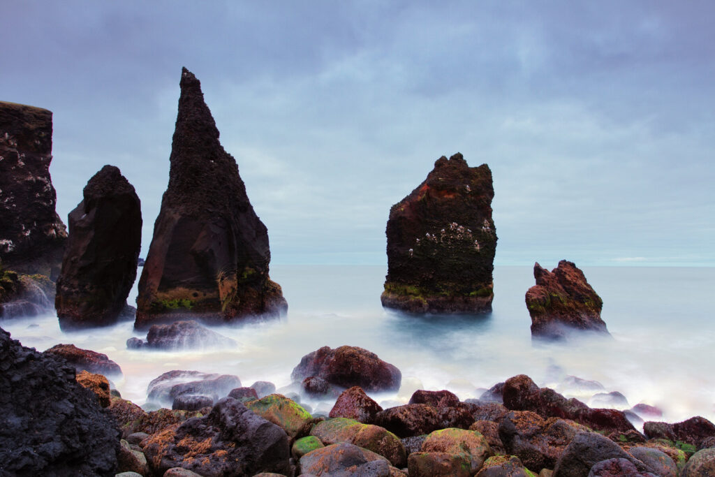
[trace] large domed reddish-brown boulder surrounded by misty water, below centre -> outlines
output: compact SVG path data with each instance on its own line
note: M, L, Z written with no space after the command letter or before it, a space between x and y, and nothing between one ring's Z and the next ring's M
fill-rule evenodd
M291 378L302 381L310 376L325 379L328 383L364 390L398 390L402 373L390 363L357 346L340 346L335 350L323 346L300 360L293 368Z

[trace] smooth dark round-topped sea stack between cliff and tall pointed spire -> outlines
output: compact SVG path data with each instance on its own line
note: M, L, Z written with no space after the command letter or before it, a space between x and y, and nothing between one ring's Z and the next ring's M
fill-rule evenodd
M69 212L69 239L57 279L62 328L109 325L127 306L142 247L142 210L134 187L106 165Z

